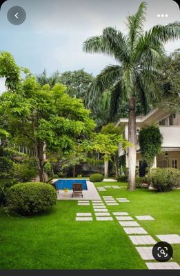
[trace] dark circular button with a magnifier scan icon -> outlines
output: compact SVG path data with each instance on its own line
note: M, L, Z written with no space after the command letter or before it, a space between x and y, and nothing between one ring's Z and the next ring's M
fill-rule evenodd
M173 249L168 242L158 242L152 248L152 255L158 262L168 262L173 255Z

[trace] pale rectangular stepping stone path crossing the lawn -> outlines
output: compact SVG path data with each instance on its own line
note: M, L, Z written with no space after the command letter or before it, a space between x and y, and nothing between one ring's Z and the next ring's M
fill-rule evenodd
M119 186L104 186L97 187L97 190L104 191L106 188L124 188ZM130 202L130 200L126 199L126 197L119 197L117 201L112 196L103 196L103 200L106 202L106 205L113 206L119 205L117 201L120 203ZM80 206L90 206L90 201L79 200L78 205ZM97 221L113 221L110 213L108 212L107 207L104 205L102 200L92 200L92 207L94 209L94 215L96 216ZM154 261L154 257L152 256L152 245L157 244L157 242L151 237L147 235L147 231L143 229L137 221L134 221L132 217L127 212L113 212L112 215L116 217L119 221L119 225L123 227L123 230L128 234L132 244L141 245L137 246L137 252L141 256L143 260ZM142 215L136 216L139 221L143 220L154 220L150 215ZM77 213L76 221L92 221L92 213ZM139 234L139 235L137 235ZM163 241L168 242L169 244L180 244L180 236L179 235L157 235L157 237ZM150 246L147 246L150 245ZM157 263L157 262L146 262L146 266L148 269L180 269L179 264L176 262L167 262L167 263Z

